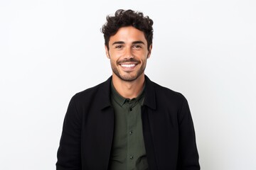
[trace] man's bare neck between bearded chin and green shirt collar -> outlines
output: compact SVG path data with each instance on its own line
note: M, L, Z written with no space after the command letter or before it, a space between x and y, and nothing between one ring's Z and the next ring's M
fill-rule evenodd
M124 98L136 98L143 89L145 77L140 75L134 81L124 81L119 79L115 74L112 75L114 89Z

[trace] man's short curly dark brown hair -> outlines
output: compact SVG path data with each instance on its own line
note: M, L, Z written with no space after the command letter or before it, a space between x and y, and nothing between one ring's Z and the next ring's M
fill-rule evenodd
M105 45L109 50L110 37L117 33L119 28L133 26L141 30L146 38L148 49L152 44L153 39L153 21L149 16L144 16L142 12L119 9L114 13L114 16L107 16L107 22L102 26L102 33L105 38Z

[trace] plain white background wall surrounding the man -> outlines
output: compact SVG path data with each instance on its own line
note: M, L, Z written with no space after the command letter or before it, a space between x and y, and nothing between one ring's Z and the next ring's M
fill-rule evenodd
M70 98L112 74L101 26L154 20L146 74L188 99L204 170L256 169L256 2L0 2L0 169L55 169Z

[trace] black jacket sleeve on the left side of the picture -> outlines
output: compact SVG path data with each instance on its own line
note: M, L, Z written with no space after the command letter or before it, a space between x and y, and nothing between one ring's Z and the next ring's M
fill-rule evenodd
M60 146L57 153L57 170L80 170L81 166L81 118L71 98L63 123Z

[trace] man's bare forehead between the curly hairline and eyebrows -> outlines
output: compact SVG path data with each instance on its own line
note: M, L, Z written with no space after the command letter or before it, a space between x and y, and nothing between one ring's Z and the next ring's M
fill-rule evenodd
M122 27L117 30L115 35L110 37L110 42L123 41L123 42L134 42L142 41L146 44L146 38L144 33L137 28L132 26Z

